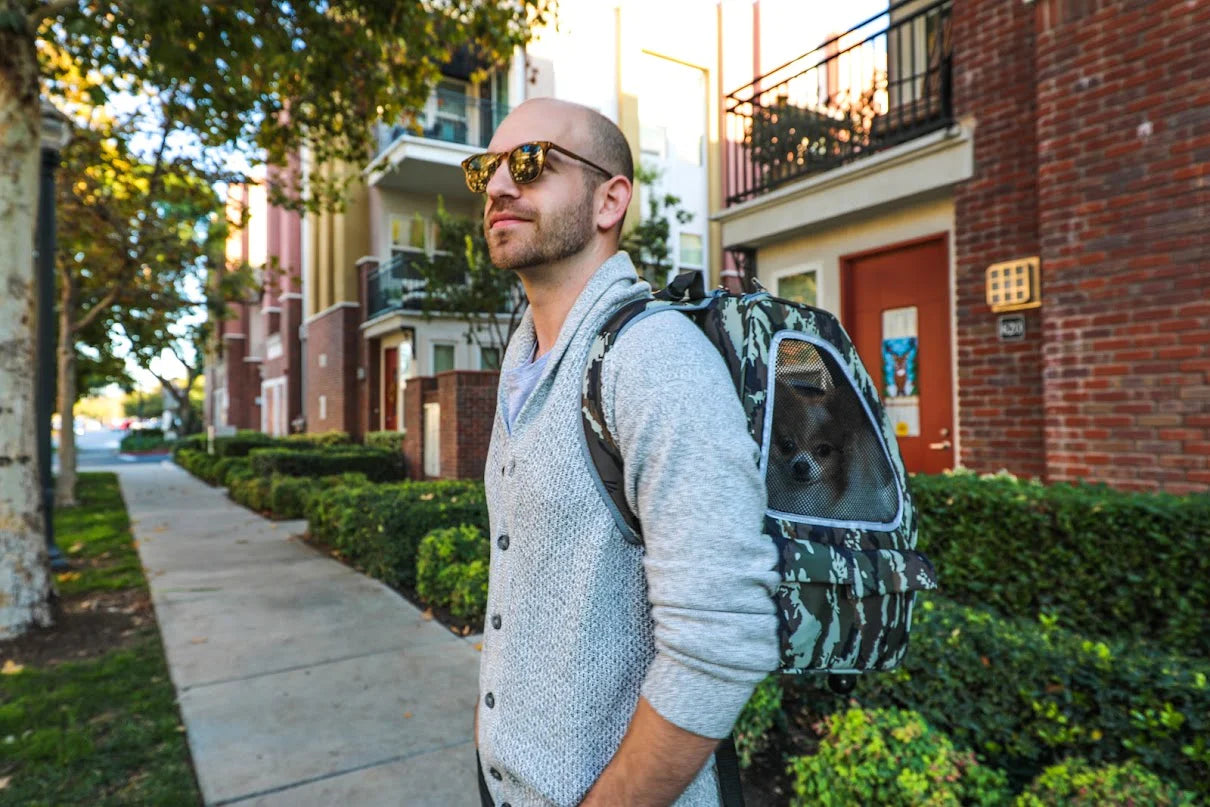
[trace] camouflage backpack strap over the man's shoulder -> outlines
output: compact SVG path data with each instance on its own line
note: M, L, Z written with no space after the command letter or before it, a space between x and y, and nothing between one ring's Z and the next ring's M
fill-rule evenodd
M668 284L668 288L655 296L634 300L618 309L597 334L588 365L584 368L584 381L581 393L580 415L583 423L583 442L581 448L588 462L588 471L600 491L605 505L613 514L613 521L622 537L629 543L643 546L643 529L639 517L626 501L626 486L622 475L622 450L617 439L610 433L605 421L605 409L601 404L601 373L605 367L605 354L618 340L622 333L643 317L674 309L696 311L709 302L701 272L681 272Z

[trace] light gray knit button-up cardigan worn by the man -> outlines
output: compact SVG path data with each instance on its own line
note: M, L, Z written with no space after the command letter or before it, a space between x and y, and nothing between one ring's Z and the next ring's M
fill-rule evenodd
M589 477L580 420L588 351L612 311L647 294L624 253L609 259L512 432L499 396L477 738L497 807L578 803L640 693L676 726L725 737L777 665L777 559L761 535L757 446L721 357L684 315L640 321L604 368L606 422L645 548L622 538ZM526 312L503 368L528 361L534 342ZM718 803L711 763L676 801Z

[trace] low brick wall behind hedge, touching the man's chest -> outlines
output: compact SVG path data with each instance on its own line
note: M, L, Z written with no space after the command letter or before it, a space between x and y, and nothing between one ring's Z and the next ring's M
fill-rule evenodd
M403 450L408 474L424 479L425 403L440 405L440 478L483 479L491 425L496 416L494 370L450 370L433 377L409 379L404 392L408 422Z

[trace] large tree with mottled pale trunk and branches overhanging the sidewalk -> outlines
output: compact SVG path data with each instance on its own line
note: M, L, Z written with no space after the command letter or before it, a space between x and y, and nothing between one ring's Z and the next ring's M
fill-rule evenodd
M40 67L39 46L60 50L79 75L97 77L92 106L160 99L167 155L188 155L203 173L219 173L232 154L284 165L300 149L317 165L361 165L371 122L419 110L455 52L469 51L485 67L507 62L551 5L0 0L0 388L13 415L0 417L0 635L50 618L30 459L30 270L39 99L42 90L58 97L63 76L47 67L53 59ZM347 181L312 177L306 194L280 186L275 201L339 204Z

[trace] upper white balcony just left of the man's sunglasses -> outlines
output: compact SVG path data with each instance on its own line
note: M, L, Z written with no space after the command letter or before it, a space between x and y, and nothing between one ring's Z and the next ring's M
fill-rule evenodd
M379 154L365 169L370 185L446 197L469 194L460 163L483 151L511 111L472 94L469 85L443 81L414 119L379 126Z

